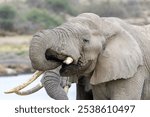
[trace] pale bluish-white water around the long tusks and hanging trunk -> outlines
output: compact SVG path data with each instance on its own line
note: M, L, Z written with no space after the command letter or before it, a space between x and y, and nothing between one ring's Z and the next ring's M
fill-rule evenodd
M0 100L52 100L42 88L40 91L27 95L27 96L19 96L16 94L4 94L4 91L11 89L20 85L21 83L27 81L31 78L31 74L26 75L18 75L18 76L9 76L9 77L0 77ZM33 87L37 83L40 82L41 78L38 78L36 81L33 82L28 88ZM68 92L68 97L70 100L75 100L76 92L75 92L75 84L72 84L71 88Z

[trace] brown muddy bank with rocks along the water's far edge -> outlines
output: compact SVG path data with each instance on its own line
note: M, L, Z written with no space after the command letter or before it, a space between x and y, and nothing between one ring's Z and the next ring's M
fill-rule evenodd
M33 69L28 54L0 53L0 76L31 72L33 72Z

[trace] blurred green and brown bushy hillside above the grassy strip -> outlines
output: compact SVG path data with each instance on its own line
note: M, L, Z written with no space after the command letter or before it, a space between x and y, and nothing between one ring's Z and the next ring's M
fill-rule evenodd
M0 3L0 34L33 34L82 12L101 17L140 18L144 17L144 10L150 10L149 6L150 2L142 0L5 0Z

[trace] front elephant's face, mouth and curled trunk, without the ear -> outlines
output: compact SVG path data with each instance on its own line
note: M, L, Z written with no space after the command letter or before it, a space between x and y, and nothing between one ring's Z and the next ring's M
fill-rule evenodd
M33 68L46 71L62 65L62 76L93 71L105 42L94 21L98 18L83 14L52 30L36 33L29 51ZM66 58L72 59L70 64Z

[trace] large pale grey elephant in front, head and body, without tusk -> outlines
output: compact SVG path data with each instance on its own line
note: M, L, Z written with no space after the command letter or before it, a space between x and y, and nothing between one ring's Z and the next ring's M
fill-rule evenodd
M36 33L29 53L37 70L62 65L60 75L77 81L78 99L91 98L92 91L93 99L135 100L150 99L149 46L150 25L84 13ZM70 65L63 63L68 56Z

